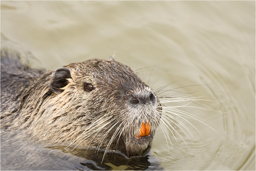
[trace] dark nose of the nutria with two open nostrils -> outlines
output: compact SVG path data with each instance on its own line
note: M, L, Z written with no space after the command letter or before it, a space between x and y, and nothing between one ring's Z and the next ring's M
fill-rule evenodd
M131 95L129 97L129 102L133 105L137 104L146 104L146 103L155 103L155 95L153 93L150 94L141 94L141 95Z

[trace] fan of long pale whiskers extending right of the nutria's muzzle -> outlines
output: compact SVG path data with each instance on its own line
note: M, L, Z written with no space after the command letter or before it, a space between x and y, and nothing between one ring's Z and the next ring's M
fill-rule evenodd
M181 80L176 80L172 83L166 84L165 86L162 86L154 91L154 93L159 96L160 103L162 104L162 116L161 116L161 122L159 127L163 131L167 144L169 141L172 148L173 148L173 144L171 142L168 131L170 131L175 141L178 141L178 137L179 137L188 147L187 142L183 138L184 135L182 136L180 134L180 131L177 130L177 128L179 128L186 135L186 137L188 137L191 143L192 143L192 140L197 143L195 137L193 136L191 130L187 127L186 123L191 125L193 129L195 129L200 134L200 136L204 139L203 135L199 132L198 128L196 128L196 126L193 125L189 121L189 119L198 121L199 123L202 123L208 126L209 128L211 128L212 130L214 130L211 126L204 123L205 121L204 119L196 115L193 115L189 112L186 112L182 108L193 108L196 110L202 109L202 110L215 111L215 112L218 111L213 106L207 104L207 102L215 102L215 101L205 99L206 96L197 96L197 94L200 91L184 92L184 91L178 90L178 89L184 89L184 88L193 87L193 86L207 86L207 84L183 86L183 87L178 87L173 89L167 89L169 86L179 81ZM210 106L210 108L208 108L207 106ZM174 126L176 126L176 128ZM168 146L168 150L169 150L169 146Z

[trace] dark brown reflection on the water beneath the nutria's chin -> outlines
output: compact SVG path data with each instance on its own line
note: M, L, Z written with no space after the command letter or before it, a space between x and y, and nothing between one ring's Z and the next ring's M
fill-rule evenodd
M92 162L80 164L86 166L88 169L91 170L146 170L151 165L151 163L148 161L150 157L150 146L145 149L145 153L143 156L135 156L130 158L126 157L124 154L118 151L108 152L103 158L104 151L96 148L73 148L61 145L47 146L45 148L60 149L63 153L70 153L74 156L90 160ZM149 170L162 169L161 167L159 167L158 162L154 162L154 165L155 166L153 168L150 168Z

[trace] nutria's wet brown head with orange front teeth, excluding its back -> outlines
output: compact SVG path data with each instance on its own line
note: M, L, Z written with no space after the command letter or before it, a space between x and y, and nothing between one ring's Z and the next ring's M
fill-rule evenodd
M56 69L44 78L46 86L34 88L38 91L24 102L45 97L34 106L33 120L26 121L38 140L119 150L127 156L142 155L152 141L161 104L130 67L93 59Z

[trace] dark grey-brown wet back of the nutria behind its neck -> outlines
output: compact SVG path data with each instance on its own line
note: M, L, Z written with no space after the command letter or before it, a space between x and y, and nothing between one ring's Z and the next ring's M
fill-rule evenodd
M1 119L18 110L19 99L44 71L31 69L17 54L1 51Z

